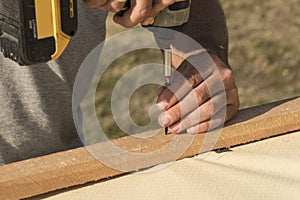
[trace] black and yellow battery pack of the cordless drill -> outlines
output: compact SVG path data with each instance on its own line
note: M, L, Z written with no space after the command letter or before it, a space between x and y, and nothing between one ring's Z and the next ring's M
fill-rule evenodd
M77 30L76 0L1 0L0 51L21 65L58 58Z

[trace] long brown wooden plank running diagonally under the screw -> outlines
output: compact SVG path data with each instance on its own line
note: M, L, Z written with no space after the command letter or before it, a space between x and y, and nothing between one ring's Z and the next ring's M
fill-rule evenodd
M240 110L220 133L197 134L180 158L191 157L209 149L203 146L207 136L216 137L213 149L236 146L263 138L300 129L300 98L275 102ZM152 157L128 157L126 154L109 155L120 163L141 169L171 161L172 154L188 134L165 136L163 131L153 137L141 139L124 137L112 141L115 145L134 153L159 152L157 150L173 143L175 148L162 151ZM94 145L101 148L105 143ZM0 199L19 199L46 192L107 179L126 172L112 169L96 160L85 148L59 152L24 160L0 167Z

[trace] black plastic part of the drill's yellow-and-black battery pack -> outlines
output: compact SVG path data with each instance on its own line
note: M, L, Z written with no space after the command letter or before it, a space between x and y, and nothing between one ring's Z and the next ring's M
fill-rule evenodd
M0 1L0 49L20 65L51 60L55 39L37 39L34 0Z

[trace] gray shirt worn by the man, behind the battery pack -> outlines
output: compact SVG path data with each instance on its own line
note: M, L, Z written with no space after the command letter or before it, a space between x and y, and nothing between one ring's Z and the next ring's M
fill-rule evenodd
M105 38L105 18L78 1L78 31L58 60L19 66L0 55L0 165L76 141L72 87L85 56Z

